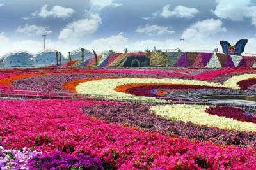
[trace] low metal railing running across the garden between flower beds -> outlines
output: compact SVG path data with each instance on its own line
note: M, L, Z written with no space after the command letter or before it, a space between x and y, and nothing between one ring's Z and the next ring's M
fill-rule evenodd
M221 102L212 99L187 99L172 97L142 97L142 96L113 96L102 94L77 94L71 92L41 92L28 90L1 90L0 97L15 98L35 98L35 99L86 99L92 101L116 101L127 103L148 103L148 104L195 104L195 105L215 105L215 106L234 106L250 111L256 111L256 104Z

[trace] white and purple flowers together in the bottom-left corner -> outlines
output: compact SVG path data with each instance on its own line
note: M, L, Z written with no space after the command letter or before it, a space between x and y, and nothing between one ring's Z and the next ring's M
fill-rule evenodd
M109 166L105 164L104 166ZM101 159L90 155L68 155L57 151L53 155L23 150L7 150L0 146L0 169L104 169Z

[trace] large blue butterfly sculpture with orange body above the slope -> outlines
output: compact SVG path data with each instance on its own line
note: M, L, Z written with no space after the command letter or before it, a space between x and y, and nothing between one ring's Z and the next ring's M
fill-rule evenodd
M241 55L241 53L244 52L244 46L247 42L248 39L240 39L237 41L236 45L232 46L227 41L220 41L220 45L225 54Z

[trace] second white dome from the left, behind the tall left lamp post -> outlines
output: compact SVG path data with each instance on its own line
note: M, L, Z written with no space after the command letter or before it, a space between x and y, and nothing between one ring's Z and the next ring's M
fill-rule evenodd
M32 66L44 67L45 60L46 60L46 66L56 65L56 51L57 50L54 50L54 49L47 49L45 50L45 55L44 55L44 50L40 50L32 57L31 59ZM61 56L61 59L63 59L63 55ZM59 60L60 60L60 55L58 53L58 64L59 64Z

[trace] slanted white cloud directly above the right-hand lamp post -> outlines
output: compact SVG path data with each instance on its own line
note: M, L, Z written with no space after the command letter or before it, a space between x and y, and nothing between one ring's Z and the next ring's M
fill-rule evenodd
M207 19L195 22L186 29L182 38L184 39L202 39L208 38L219 32L226 32L227 29L222 27L221 20Z

